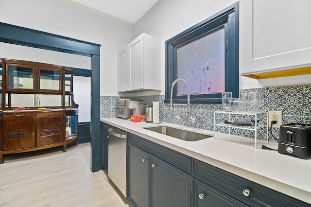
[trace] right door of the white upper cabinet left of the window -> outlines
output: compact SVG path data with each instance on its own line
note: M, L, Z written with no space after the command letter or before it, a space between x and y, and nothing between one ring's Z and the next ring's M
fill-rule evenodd
M129 44L129 89L142 89L144 79L144 36Z

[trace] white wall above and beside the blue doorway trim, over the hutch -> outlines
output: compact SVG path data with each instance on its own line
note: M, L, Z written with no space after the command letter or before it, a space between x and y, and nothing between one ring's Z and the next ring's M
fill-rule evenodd
M132 24L71 0L0 0L0 8L1 22L101 44L101 95L118 95L117 52L133 39ZM90 69L88 57L6 43L0 57Z

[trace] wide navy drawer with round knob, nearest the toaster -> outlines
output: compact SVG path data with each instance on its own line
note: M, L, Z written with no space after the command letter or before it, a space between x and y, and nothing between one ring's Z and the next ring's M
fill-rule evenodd
M192 160L192 175L250 206L310 207L310 204L196 159ZM249 196L244 195L247 190Z

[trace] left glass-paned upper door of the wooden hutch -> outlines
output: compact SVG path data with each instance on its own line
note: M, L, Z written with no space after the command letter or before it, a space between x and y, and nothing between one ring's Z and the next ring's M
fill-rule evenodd
M7 64L7 89L35 89L34 67Z

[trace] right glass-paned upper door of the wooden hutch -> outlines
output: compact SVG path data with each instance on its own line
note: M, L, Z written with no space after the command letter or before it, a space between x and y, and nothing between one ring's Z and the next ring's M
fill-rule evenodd
M61 70L39 69L39 90L61 90Z

